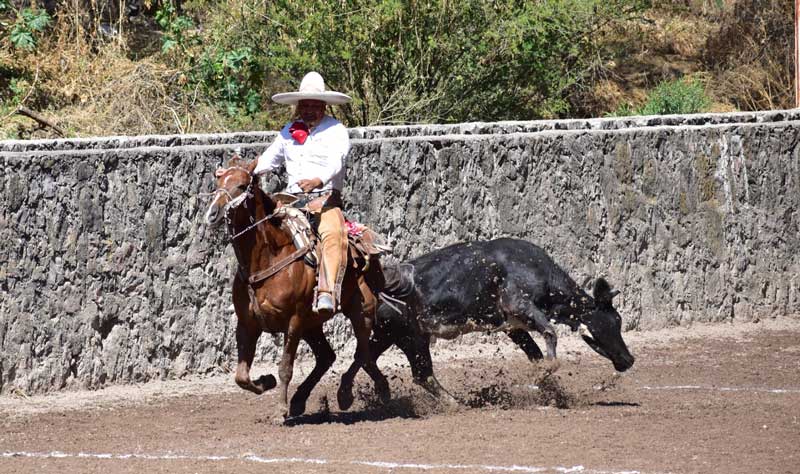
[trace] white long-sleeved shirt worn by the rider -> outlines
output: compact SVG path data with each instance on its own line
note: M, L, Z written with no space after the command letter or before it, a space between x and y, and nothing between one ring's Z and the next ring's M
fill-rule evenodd
M347 128L325 115L301 145L289 135L290 126L291 123L286 124L275 141L258 157L254 172L272 171L285 164L286 189L289 192L299 192L296 183L301 179L314 178L322 180L323 191L341 191L344 187L344 160L350 151Z

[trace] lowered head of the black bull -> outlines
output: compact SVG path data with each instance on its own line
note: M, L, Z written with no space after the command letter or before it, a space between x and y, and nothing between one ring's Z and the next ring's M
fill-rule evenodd
M581 316L580 335L601 356L611 360L614 368L624 372L631 368L634 358L622 340L622 318L611 300L619 294L608 282L599 278L594 284L595 308Z

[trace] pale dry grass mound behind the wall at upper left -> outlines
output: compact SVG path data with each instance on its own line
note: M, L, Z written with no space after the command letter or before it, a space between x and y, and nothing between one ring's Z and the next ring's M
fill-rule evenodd
M158 58L133 61L123 41L90 44L67 18L23 63L36 83L24 105L40 111L70 136L225 132L221 116L185 77ZM4 52L0 65L19 58ZM19 54L19 53L18 53ZM13 116L0 127L6 135L52 137L31 120Z

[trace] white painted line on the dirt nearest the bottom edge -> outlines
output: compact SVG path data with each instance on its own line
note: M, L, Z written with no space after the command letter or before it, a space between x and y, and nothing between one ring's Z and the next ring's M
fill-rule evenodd
M81 459L144 459L148 461L172 461L172 460L185 460L185 461L249 461L261 464L351 464L358 466L369 466L381 469L416 469L416 470L433 470L433 469L451 469L451 470L464 470L464 471L489 471L489 472L558 472L558 473L574 473L580 472L582 474L642 474L640 471L603 471L595 469L586 469L583 466L494 466L483 464L417 464L417 463L394 463L383 461L337 461L328 459L307 459L307 458L264 458L255 454L244 454L242 456L189 456L183 454L111 454L111 453L64 453L61 451L52 451L50 453L36 453L27 451L10 451L0 453L0 458L37 458L37 459L64 459L64 458L81 458Z

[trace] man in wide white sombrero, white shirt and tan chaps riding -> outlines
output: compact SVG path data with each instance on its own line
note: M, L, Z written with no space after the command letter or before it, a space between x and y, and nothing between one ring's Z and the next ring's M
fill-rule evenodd
M322 262L315 310L334 311L347 265L347 228L342 215L344 161L350 138L341 122L325 113L327 104L346 104L346 94L325 90L317 72L309 72L297 92L275 94L272 100L294 105L295 119L258 158L255 173L285 165L286 192L328 196L320 215Z

